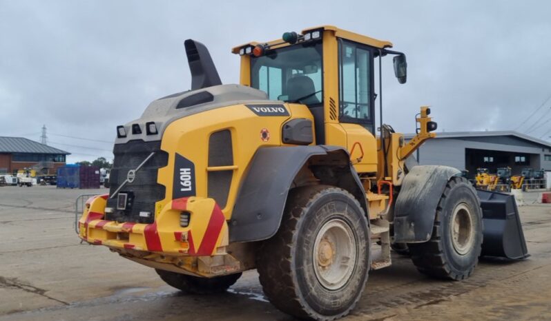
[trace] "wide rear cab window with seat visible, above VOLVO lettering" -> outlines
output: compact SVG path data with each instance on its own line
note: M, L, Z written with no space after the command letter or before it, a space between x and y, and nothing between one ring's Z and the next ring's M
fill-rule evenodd
M322 44L301 43L251 57L251 86L269 99L322 103Z

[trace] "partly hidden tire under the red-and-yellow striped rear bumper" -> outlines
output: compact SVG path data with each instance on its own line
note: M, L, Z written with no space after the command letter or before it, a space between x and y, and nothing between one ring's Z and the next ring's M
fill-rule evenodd
M175 287L186 294L213 294L225 292L231 287L242 273L217 276L215 278L200 278L182 273L155 269L157 274L171 287Z

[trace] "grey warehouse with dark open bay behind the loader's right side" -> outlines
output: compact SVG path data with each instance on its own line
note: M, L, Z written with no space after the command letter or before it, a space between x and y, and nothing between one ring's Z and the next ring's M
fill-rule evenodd
M413 134L405 135L406 139ZM551 143L519 132L441 132L419 149L421 165L447 165L467 169L472 178L479 167L495 173L511 167L512 174L523 168L551 171Z

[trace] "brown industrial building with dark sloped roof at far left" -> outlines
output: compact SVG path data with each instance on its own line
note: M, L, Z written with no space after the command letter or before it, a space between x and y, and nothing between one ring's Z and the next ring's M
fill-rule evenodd
M0 174L26 168L35 169L40 174L56 174L57 167L65 165L68 154L27 138L0 136Z

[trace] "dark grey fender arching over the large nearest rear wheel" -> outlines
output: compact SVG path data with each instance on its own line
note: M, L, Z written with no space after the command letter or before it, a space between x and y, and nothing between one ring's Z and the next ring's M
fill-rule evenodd
M342 147L264 147L253 157L235 200L229 223L230 242L265 240L276 234L289 189L307 162L322 184L346 189L367 214L363 185Z

